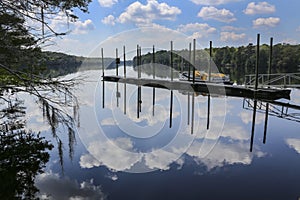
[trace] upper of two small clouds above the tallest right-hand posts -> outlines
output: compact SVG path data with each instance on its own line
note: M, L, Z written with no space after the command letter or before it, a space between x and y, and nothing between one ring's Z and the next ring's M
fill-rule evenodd
M256 14L270 14L274 13L276 8L274 5L269 4L268 2L251 2L248 4L247 8L244 10L246 15L256 15Z

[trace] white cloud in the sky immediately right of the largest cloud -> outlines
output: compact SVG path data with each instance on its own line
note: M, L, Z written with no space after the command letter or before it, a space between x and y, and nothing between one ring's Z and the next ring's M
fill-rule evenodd
M226 9L217 9L213 6L202 7L198 13L198 17L201 17L205 20L213 19L220 22L230 23L236 20L234 14Z

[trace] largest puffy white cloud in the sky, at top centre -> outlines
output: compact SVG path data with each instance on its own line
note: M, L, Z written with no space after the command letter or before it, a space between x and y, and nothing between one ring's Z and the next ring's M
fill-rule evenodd
M148 0L146 5L136 1L130 4L118 21L120 23L134 22L136 24L148 24L154 20L175 20L181 10L166 3L158 3L156 0Z

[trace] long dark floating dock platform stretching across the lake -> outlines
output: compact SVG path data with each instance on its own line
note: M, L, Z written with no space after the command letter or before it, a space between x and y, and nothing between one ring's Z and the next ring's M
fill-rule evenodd
M262 100L276 100L280 98L290 99L289 89L279 88L245 88L235 85L224 85L215 83L170 81L145 78L123 78L120 76L103 76L103 81L128 83L138 86L148 86L154 88L165 88L170 90L183 90L188 92L200 92L205 94L216 94L233 97L246 97Z

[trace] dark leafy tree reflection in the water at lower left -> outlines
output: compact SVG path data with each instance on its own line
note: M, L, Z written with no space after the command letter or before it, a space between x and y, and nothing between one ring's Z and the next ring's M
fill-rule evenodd
M8 98L1 104L0 199L34 199L38 192L35 176L43 172L48 150L53 148L40 133L25 130L23 105L23 101Z

